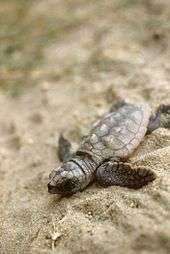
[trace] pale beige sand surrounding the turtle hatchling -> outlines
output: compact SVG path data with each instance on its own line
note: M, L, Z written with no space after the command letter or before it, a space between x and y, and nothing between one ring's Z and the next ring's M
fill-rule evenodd
M61 199L46 187L59 165L59 133L76 148L118 99L145 100L153 109L170 103L168 2L30 4L30 19L48 14L63 24L71 13L74 22L43 48L43 64L20 80L19 95L11 95L16 80L0 90L1 254L170 253L169 130L145 137L131 158L157 174L140 190L93 184ZM15 74L0 70L3 82Z

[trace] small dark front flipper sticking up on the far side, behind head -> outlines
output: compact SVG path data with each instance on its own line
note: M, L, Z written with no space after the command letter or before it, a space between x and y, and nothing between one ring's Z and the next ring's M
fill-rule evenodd
M66 162L72 157L71 143L62 134L58 140L58 157L62 162Z

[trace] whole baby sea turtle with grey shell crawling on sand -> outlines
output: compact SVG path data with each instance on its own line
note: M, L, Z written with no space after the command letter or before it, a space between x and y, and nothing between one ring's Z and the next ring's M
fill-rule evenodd
M170 128L170 105L161 105L152 114L146 103L122 101L94 124L74 155L70 143L61 135L59 157L65 162L51 172L49 193L71 195L94 180L104 187L138 189L148 184L156 178L155 173L126 161L143 137L159 127Z

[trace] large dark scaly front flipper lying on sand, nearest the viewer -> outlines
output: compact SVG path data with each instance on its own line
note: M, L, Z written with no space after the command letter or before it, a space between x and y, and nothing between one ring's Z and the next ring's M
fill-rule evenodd
M133 167L129 163L109 161L97 169L96 178L104 187L118 185L139 189L152 182L156 175L145 167Z

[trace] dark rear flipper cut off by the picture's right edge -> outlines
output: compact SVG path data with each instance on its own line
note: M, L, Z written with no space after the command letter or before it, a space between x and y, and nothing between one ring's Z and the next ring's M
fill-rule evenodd
M150 117L147 134L160 127L170 129L170 105L160 105Z

